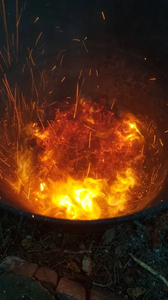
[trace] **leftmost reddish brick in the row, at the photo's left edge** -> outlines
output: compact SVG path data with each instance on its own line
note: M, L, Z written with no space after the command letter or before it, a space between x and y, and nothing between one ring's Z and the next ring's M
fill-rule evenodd
M31 263L19 256L6 256L0 263L0 272L12 272L16 275L32 277L38 269L38 264Z

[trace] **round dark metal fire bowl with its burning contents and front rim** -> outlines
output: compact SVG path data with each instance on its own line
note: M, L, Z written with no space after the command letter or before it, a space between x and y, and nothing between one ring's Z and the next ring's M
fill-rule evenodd
M97 55L102 57L97 50L92 63ZM137 217L156 204L162 207L167 103L163 87L150 77L151 69L145 64L141 70L130 68L129 60L130 56L111 54L109 64L118 73L110 77L102 68L98 76L95 68L92 76L94 66L84 74L88 66L85 55L80 55L75 69L76 73L80 70L80 78L73 84L75 97L63 94L70 88L67 78L65 83L61 80L59 102L44 97L42 104L38 100L27 104L23 95L20 101L4 76L8 100L0 123L1 203L31 217L72 226L99 226L102 222L109 226L116 220ZM68 63L67 55L66 68ZM65 73L65 68L61 72ZM106 91L100 96L96 91L86 96L90 84L98 89L96 80L104 94L109 80L113 94L110 91L106 96ZM122 90L115 88L117 80L123 97ZM49 87L46 89L50 95Z

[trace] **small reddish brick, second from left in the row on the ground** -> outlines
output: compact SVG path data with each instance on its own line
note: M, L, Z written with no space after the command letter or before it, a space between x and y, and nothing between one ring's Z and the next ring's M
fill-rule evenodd
M58 275L54 270L41 266L36 271L34 277L40 281L46 281L53 283L54 286L58 283Z

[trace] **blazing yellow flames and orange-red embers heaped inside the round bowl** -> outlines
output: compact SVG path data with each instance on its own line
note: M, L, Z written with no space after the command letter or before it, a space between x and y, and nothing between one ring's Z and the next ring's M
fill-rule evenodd
M1 121L1 189L26 210L98 219L129 213L147 199L160 167L147 172L146 151L158 160L159 137L151 147L154 132L144 122L126 112L116 116L103 99L80 98L55 108L46 126L44 109L36 107L39 126L13 103L14 117L6 111ZM33 110L34 103L31 119Z

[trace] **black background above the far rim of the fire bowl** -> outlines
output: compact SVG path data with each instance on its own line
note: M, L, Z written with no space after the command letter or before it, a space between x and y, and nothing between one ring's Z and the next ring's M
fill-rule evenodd
M15 32L15 0L4 0L8 34ZM18 11L25 1L18 0ZM101 11L104 12L105 20ZM39 20L34 26L34 19ZM59 26L60 30L56 28ZM2 18L0 45L4 43ZM166 0L27 0L19 22L19 46L43 32L41 42L54 48L72 38L116 44L125 51L168 64L168 1Z

